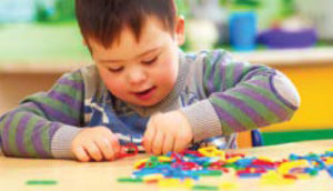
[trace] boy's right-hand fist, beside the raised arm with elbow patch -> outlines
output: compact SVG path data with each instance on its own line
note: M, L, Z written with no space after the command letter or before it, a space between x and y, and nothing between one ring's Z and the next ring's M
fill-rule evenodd
M190 123L180 111L152 115L143 137L143 147L148 153L180 152L186 149L193 138Z

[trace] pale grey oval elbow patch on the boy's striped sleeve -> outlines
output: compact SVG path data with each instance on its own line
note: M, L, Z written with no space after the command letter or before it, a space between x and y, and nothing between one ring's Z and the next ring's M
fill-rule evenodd
M283 73L278 72L273 78L273 87L278 96L293 110L297 110L301 105L301 98L297 89Z

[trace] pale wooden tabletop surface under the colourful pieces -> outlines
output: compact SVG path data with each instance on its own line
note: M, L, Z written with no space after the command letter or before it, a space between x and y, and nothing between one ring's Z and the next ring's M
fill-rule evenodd
M322 140L228 152L280 160L287 158L290 153L322 153L332 148L333 140ZM158 190L159 188L154 184L119 183L117 181L118 178L130 177L134 162L148 157L148 154L139 154L113 162L80 163L70 160L17 159L0 155L0 190ZM28 185L26 182L29 180L54 180L57 184ZM239 179L228 174L204 178L200 180L200 183L218 185L223 181L236 183L236 190L333 190L333 178L330 178L324 171L321 171L317 177L297 180L287 185L261 185L260 179Z

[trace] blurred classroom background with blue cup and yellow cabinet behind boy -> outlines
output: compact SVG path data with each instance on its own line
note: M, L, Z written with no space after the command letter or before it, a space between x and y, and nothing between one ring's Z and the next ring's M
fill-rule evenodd
M290 122L262 129L264 144L333 138L332 0L176 0L184 51L226 49L268 64L296 84L302 105ZM0 114L91 63L74 0L0 0Z

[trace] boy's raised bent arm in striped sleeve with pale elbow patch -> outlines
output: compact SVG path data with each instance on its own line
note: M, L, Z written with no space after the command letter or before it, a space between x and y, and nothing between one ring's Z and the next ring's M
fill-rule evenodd
M182 109L194 141L289 120L300 105L292 82L269 67L235 62L221 50L199 63L208 98Z

